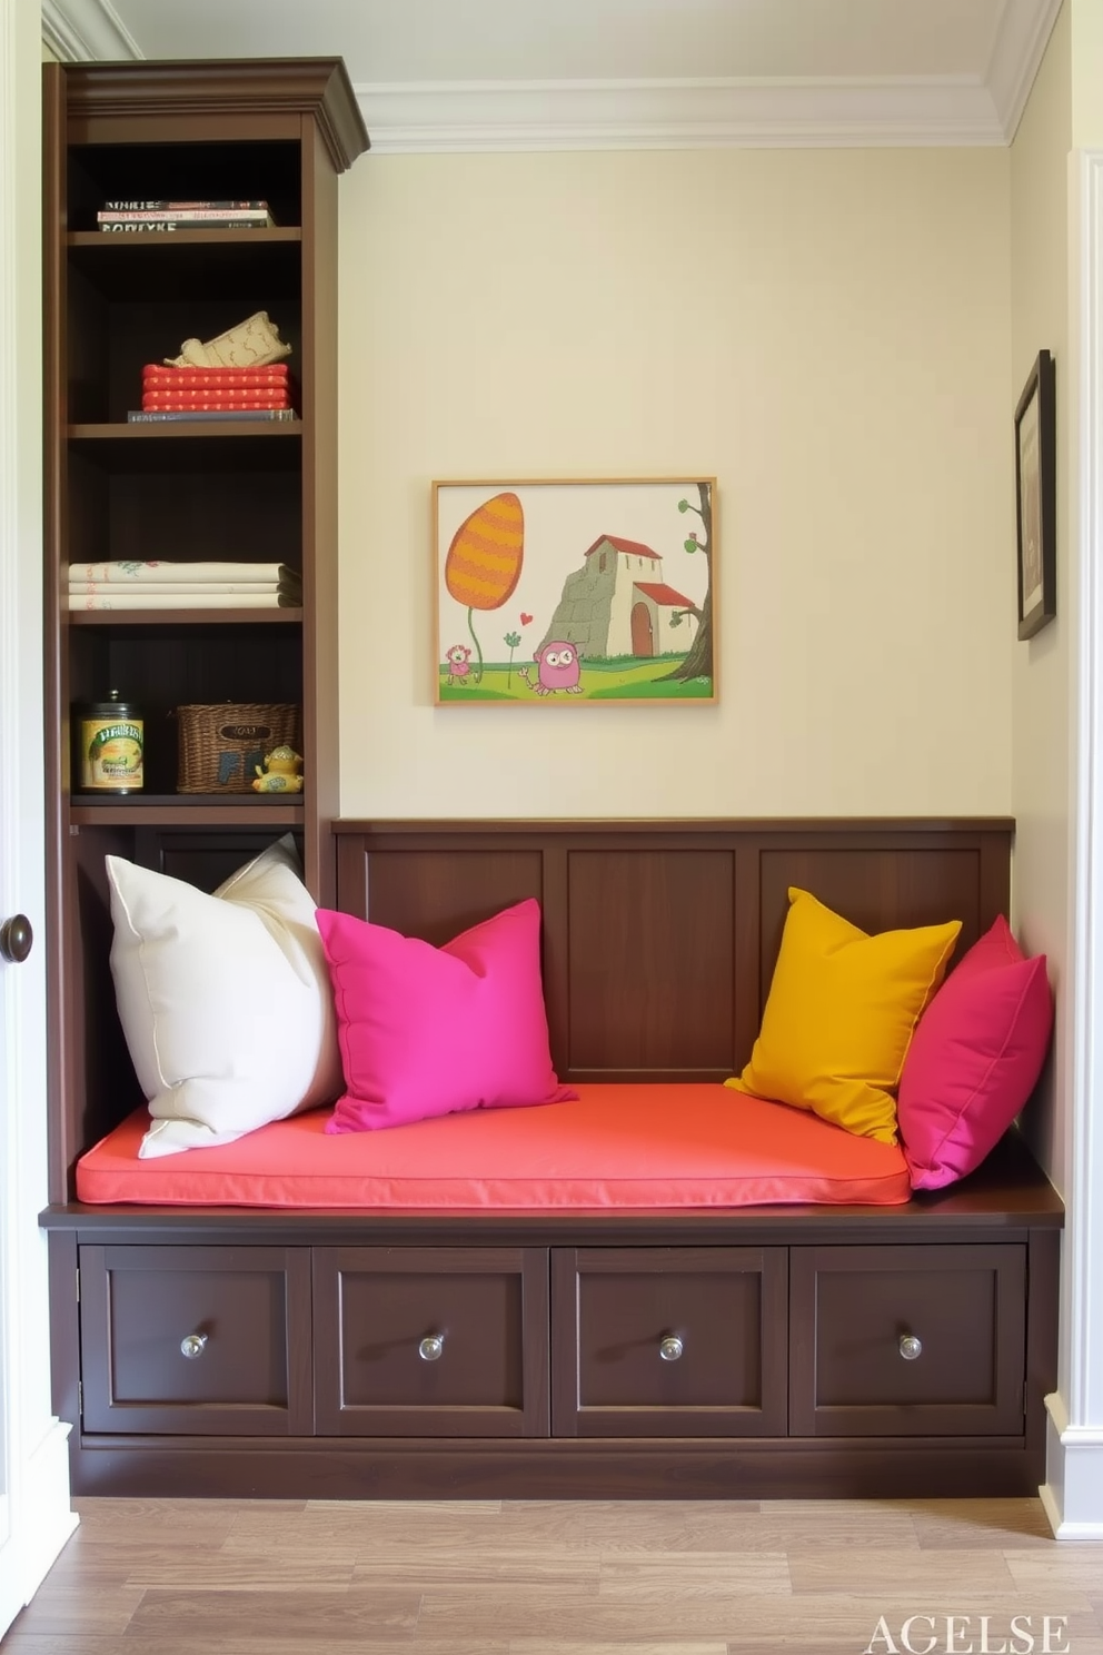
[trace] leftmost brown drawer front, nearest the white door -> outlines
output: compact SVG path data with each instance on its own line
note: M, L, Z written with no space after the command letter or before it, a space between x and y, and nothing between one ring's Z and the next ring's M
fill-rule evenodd
M313 1430L308 1248L83 1246L86 1432Z

